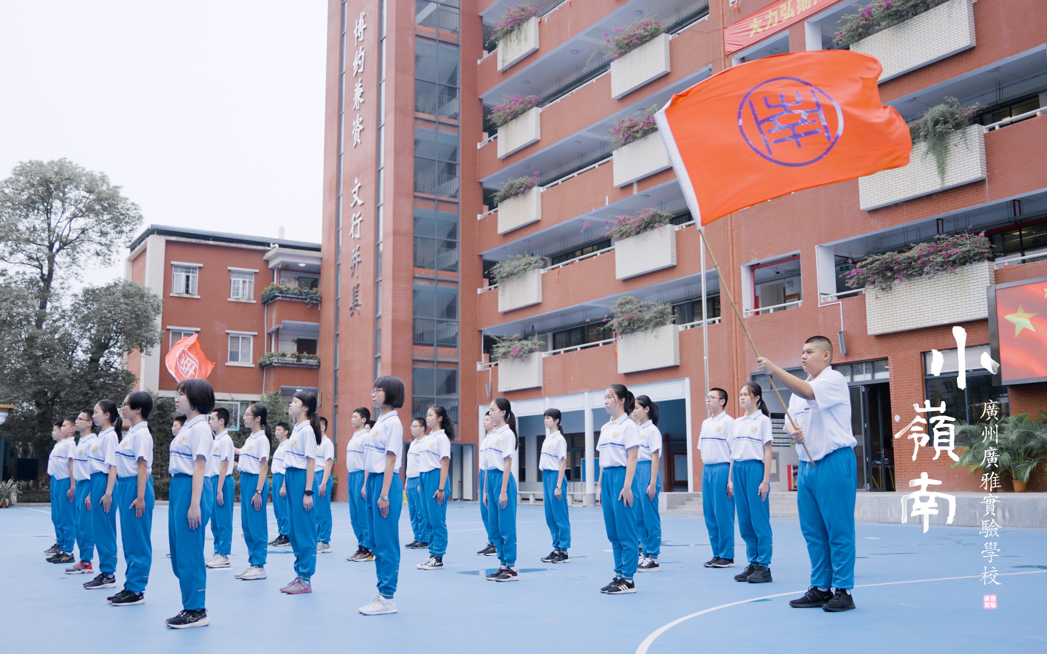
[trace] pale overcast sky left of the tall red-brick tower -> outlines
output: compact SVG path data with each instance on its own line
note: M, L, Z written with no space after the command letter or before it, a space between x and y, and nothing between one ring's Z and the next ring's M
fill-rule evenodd
M0 177L66 157L143 227L318 241L326 22L324 0L0 0Z

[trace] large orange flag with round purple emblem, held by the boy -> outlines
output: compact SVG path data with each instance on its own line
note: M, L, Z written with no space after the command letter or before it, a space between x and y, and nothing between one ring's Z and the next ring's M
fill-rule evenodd
M740 64L655 114L691 212L708 225L795 190L909 163L909 127L879 102L875 58L849 50Z

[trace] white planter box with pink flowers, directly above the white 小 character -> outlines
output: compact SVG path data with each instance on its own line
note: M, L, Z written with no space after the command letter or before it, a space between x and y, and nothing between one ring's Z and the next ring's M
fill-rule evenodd
M890 291L867 289L865 322L870 335L956 324L988 317L985 287L995 284L993 262L895 284ZM956 298L962 297L958 302Z

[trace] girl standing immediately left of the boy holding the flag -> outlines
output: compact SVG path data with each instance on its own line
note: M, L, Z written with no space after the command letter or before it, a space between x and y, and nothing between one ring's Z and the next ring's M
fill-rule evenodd
M735 498L738 531L745 541L749 565L736 582L766 584L771 578L771 412L756 382L742 385L738 404L744 413L731 429L731 478L727 493Z

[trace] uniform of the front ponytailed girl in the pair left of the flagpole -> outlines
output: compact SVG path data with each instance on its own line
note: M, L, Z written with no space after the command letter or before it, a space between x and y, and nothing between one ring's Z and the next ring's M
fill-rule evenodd
M632 580L637 571L637 516L633 506L626 506L618 496L625 487L625 465L628 450L640 446L640 428L622 413L600 428L600 504L603 506L603 524L615 554L615 576ZM641 493L636 475L632 476L632 498Z

